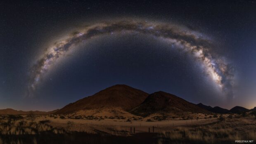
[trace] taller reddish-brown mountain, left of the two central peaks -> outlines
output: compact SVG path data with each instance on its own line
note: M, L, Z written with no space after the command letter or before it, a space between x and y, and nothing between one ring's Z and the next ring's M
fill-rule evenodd
M96 94L64 106L56 114L74 113L81 110L119 108L129 111L140 105L148 96L146 92L128 85L114 85Z

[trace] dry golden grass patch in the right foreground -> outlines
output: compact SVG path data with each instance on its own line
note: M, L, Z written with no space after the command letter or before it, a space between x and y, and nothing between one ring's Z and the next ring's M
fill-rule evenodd
M226 119L211 125L195 127L175 127L172 130L162 132L159 144L170 143L197 143L220 144L235 142L235 140L256 139L256 121L251 118Z

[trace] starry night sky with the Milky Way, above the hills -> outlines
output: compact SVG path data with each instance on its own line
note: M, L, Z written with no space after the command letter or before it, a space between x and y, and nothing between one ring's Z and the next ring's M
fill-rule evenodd
M256 106L256 2L0 2L0 109L51 111L126 84Z

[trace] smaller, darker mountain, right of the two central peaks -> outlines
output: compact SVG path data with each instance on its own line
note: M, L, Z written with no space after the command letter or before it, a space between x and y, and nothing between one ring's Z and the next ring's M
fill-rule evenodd
M192 104L173 94L161 91L150 94L142 104L135 107L130 112L138 116L171 112L209 113L209 111L202 109L196 104Z

